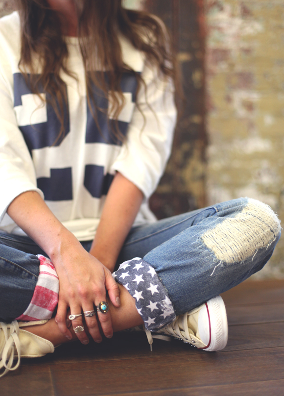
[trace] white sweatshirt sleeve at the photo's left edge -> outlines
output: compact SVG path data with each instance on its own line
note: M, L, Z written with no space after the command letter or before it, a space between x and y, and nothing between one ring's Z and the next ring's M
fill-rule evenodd
M37 191L31 155L18 128L11 87L0 74L0 222L9 204L26 191ZM44 197L43 197L44 198Z

